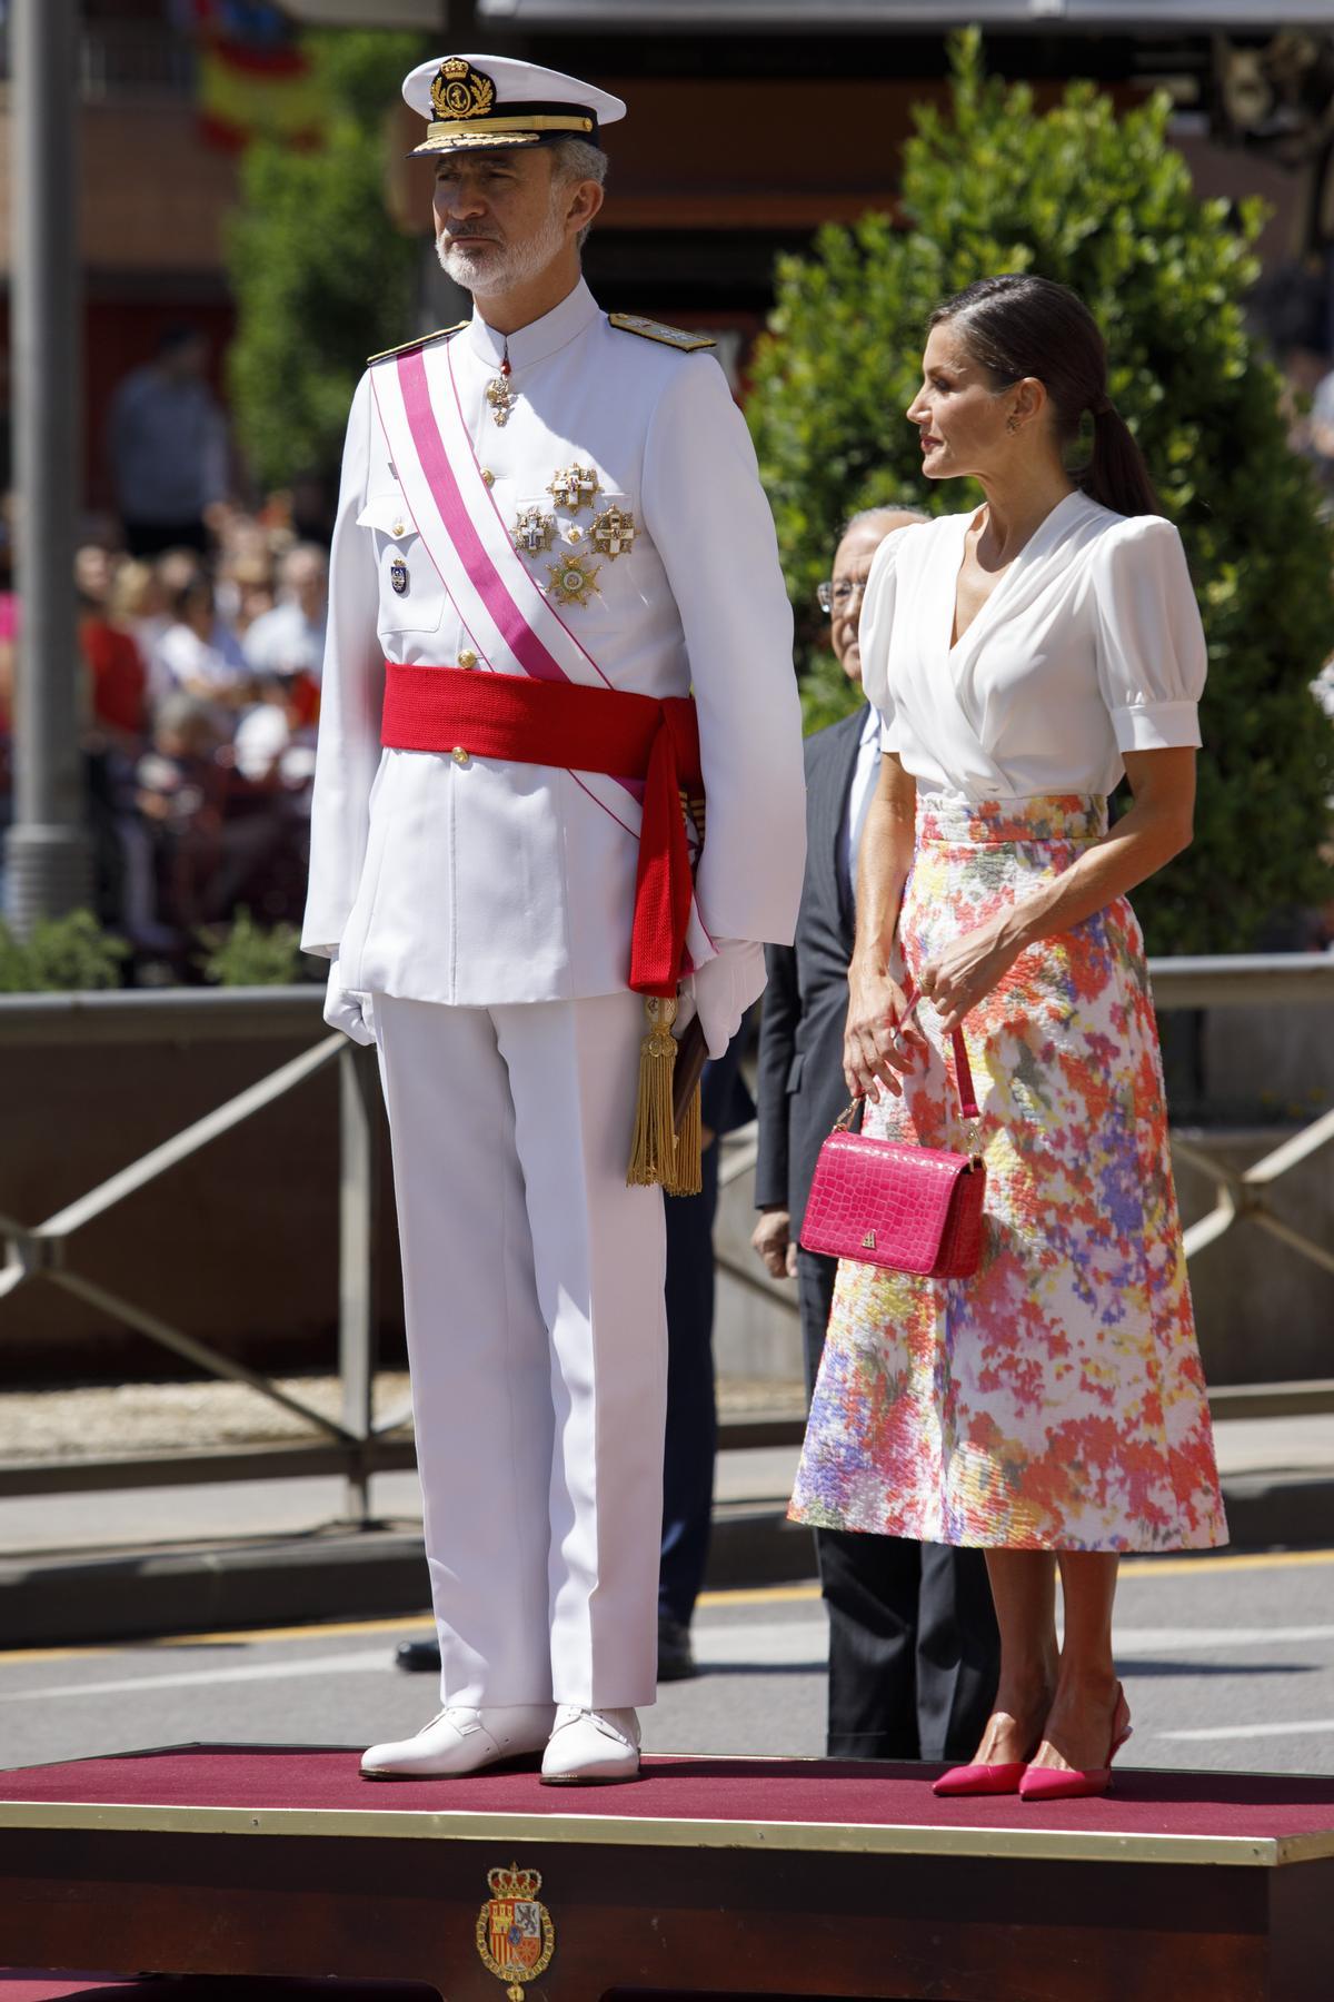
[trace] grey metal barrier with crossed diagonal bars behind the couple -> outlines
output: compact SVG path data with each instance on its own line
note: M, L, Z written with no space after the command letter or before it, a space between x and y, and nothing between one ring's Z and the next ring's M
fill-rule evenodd
M1254 955L1226 959L1158 959L1150 967L1160 1011L1178 1007L1274 1007L1334 1001L1334 955ZM24 1285L44 1281L112 1315L216 1377L246 1383L270 1403L308 1423L314 1443L256 1445L244 1449L124 1455L114 1459L60 1459L0 1463L0 1495L52 1493L72 1487L144 1487L188 1481L264 1479L288 1473L344 1473L348 1514L370 1516L370 1475L412 1465L412 1409L376 1419L372 1271L376 1241L376 1097L374 1053L356 1049L344 1035L322 1033L322 991L316 987L162 989L152 993L4 995L0 997L0 1061L4 1053L60 1043L176 1043L218 1039L274 1041L318 1035L302 1055L248 1085L226 1105L196 1119L172 1139L110 1175L40 1223L20 1223L0 1213L6 1263L0 1267L0 1303ZM328 1417L302 1397L280 1389L212 1345L134 1301L84 1277L68 1259L70 1243L94 1217L158 1175L170 1173L210 1141L282 1099L314 1071L338 1065L340 1193L338 1193L338 1375L342 1413ZM1216 1243L1238 1221L1256 1223L1288 1249L1334 1271L1334 1249L1286 1223L1272 1207L1274 1185L1334 1143L1334 1109L1312 1119L1262 1161L1232 1171L1204 1147L1174 1135L1176 1151L1214 1177L1218 1203L1186 1231L1186 1255ZM730 1147L722 1179L730 1183L754 1165L754 1141ZM718 1265L732 1279L762 1291L782 1311L796 1311L790 1295L730 1257ZM2 1333L2 1311L0 1311ZM1288 1415L1334 1409L1334 1379L1314 1383L1232 1385L1212 1391L1216 1413ZM792 1419L744 1419L724 1427L724 1445L772 1445L800 1437Z

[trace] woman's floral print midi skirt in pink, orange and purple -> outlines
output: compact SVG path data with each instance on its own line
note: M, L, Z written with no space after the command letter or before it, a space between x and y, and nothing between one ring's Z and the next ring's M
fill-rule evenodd
M1080 795L920 801L898 939L914 975L1106 829ZM864 1131L960 1145L936 1015ZM844 1259L792 1497L816 1528L1004 1550L1226 1542L1144 943L1116 899L1020 953L964 1023L986 1157L982 1265Z

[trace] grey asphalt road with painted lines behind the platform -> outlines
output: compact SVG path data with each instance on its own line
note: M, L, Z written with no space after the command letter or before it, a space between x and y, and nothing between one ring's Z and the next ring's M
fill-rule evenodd
M434 1712L392 1666L420 1622L0 1654L0 1766L200 1740L362 1746ZM824 1610L814 1588L710 1594L704 1674L644 1712L656 1752L818 1754ZM1334 1550L1134 1562L1118 1652L1128 1764L1334 1772Z

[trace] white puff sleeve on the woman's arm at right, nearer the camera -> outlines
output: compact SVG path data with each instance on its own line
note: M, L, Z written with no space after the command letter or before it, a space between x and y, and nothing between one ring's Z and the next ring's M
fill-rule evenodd
M1170 521L1134 515L1092 565L1098 687L1118 751L1200 743L1208 655L1186 551Z

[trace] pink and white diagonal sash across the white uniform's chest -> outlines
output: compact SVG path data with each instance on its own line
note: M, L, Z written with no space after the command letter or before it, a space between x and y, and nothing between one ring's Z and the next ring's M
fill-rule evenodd
M412 527L472 645L492 673L610 689L514 549L464 424L450 340L386 358L370 388ZM642 781L572 773L638 841ZM690 905L686 949L696 967L714 945Z

